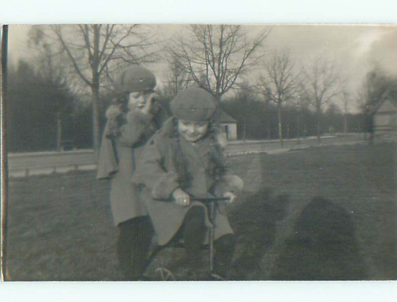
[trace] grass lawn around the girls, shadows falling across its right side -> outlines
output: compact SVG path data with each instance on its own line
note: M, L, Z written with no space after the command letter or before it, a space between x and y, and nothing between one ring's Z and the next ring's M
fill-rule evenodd
M235 156L230 165L245 181L228 209L238 242L231 278L396 279L395 144ZM8 194L8 279L121 277L107 181L94 172L16 178Z

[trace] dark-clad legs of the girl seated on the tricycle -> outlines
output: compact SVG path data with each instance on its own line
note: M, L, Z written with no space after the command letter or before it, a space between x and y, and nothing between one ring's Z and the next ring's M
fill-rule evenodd
M205 211L200 206L193 206L186 213L181 229L177 237L183 237L184 247L186 249L186 258L191 266L199 264L199 255L205 234ZM234 249L235 237L233 234L227 234L218 238L214 242L215 247L215 273L226 276L230 268Z

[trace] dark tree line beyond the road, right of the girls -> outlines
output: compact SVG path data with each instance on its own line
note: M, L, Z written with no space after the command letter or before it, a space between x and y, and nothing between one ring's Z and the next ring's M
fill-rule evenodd
M277 104L266 105L260 96L249 98L238 94L221 102L221 107L237 121L237 138L280 139L280 124ZM347 117L347 127L345 119ZM324 133L363 132L362 113L345 115L339 107L331 105L321 113L321 135ZM283 107L282 136L284 139L298 139L317 135L317 113L308 107L294 105Z

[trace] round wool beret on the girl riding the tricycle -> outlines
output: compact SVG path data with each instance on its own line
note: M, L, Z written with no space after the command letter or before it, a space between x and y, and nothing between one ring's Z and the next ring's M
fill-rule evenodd
M202 88L190 87L179 92L171 101L172 115L178 119L209 121L216 111L216 100Z

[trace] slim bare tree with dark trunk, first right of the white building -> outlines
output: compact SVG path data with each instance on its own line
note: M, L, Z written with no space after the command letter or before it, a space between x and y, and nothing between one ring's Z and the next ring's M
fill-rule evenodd
M274 53L266 64L265 72L258 77L258 85L266 100L274 101L277 105L279 138L281 148L283 143L283 104L291 101L300 89L299 73L294 73L294 63L288 52Z

